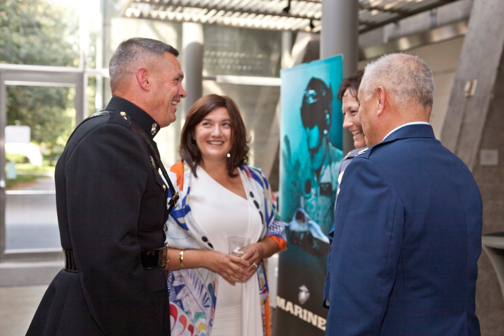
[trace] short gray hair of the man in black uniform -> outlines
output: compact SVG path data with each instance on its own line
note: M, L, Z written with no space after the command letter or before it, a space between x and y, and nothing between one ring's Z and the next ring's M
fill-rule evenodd
M150 38L135 37L119 44L108 65L112 93L129 73L136 71L132 66L138 60L147 60L153 56L162 56L165 52L178 56L177 49L171 45Z

